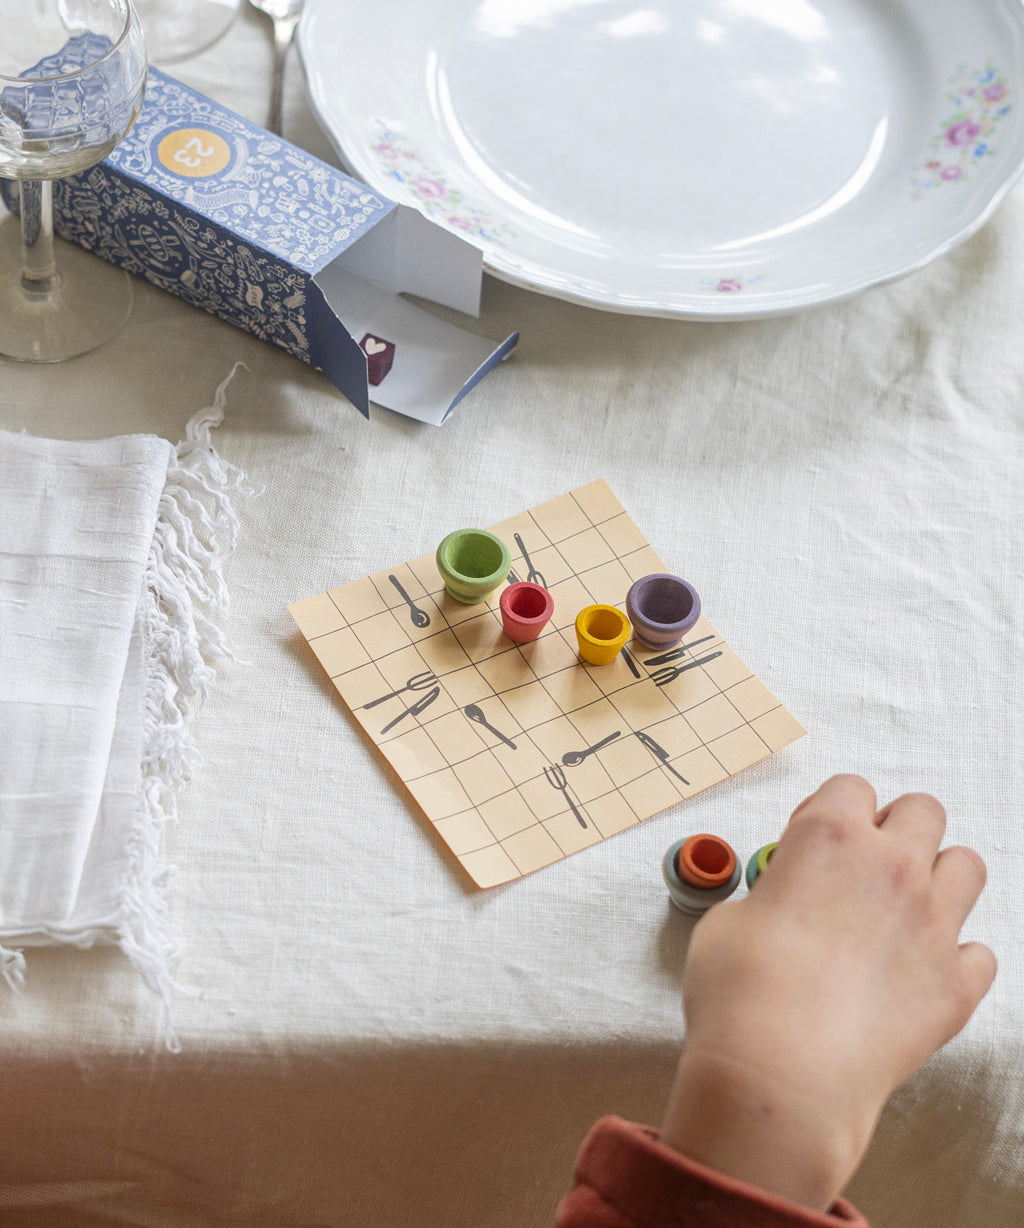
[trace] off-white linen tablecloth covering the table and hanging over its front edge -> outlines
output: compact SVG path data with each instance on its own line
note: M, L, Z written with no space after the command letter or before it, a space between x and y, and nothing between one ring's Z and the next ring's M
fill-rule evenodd
M189 85L262 120L246 15ZM290 66L286 135L332 157ZM1012 1228L1024 1205L1024 187L906 281L692 324L487 279L517 355L441 429L367 424L279 350L139 285L125 333L0 363L0 425L180 437L236 360L228 664L166 833L183 1052L117 952L33 953L0 996L5 1224L550 1224L595 1116L657 1122L691 921L690 831L748 856L834 771L937 793L988 887L999 975L894 1099L848 1196L875 1228ZM473 890L345 713L286 603L607 478L809 736L526 879Z

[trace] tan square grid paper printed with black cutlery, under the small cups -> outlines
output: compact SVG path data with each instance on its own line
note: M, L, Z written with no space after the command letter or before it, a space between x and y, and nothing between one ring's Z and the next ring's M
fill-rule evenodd
M669 662L678 668L670 677L659 673L665 664L648 664L659 653L636 641L629 659L580 662L580 609L595 600L624 608L632 581L672 570L605 481L492 532L508 543L516 576L539 573L555 598L555 615L533 643L505 637L498 594L478 605L452 600L433 554L289 607L338 693L478 887L597 844L804 733L706 616ZM436 682L420 677L363 706L431 674ZM438 694L410 712L433 686Z

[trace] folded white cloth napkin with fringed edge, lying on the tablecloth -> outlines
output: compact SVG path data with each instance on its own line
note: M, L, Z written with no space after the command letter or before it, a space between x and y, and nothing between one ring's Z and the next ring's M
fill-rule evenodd
M230 377L228 377L230 379ZM222 566L241 470L210 429L66 442L0 432L0 975L26 947L118 943L169 1007L161 829L189 726L231 656ZM167 1043L177 1047L167 1022Z

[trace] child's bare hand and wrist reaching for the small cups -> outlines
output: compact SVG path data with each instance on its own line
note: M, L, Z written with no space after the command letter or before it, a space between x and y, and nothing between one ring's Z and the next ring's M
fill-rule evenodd
M859 776L793 812L743 900L711 909L686 962L686 1043L662 1141L826 1210L891 1092L968 1022L996 975L959 933L985 885L939 853L945 813L910 793L875 813Z

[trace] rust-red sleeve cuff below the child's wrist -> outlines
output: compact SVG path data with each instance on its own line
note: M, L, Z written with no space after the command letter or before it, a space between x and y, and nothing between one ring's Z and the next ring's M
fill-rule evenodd
M819 1214L697 1164L621 1117L594 1125L575 1176L556 1228L868 1228L842 1199Z

